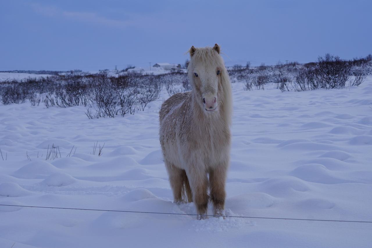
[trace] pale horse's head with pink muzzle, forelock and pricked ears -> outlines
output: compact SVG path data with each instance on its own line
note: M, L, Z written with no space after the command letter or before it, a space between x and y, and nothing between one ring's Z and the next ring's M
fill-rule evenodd
M187 67L195 100L206 112L218 109L218 89L221 78L227 73L217 44L214 47L195 48L189 50L190 64Z

